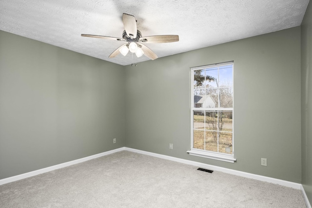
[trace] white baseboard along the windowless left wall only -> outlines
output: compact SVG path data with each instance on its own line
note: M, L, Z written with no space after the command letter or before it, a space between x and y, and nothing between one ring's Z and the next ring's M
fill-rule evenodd
M95 159L95 158L98 158L98 157L102 157L102 156L105 156L105 155L108 155L108 154L112 154L112 153L115 153L117 151L123 151L123 150L125 150L124 147L118 148L116 150L105 151L105 152L102 152L102 153L94 154L94 155L91 155L91 156L88 156L88 157L83 157L83 158L80 158L80 159L77 159L77 160L72 160L72 161L69 161L69 162L66 162L66 163L61 163L61 164L58 164L58 165L55 165L55 166L50 166L50 167L47 167L47 168L34 170L34 171L26 172L26 173L23 173L23 174L20 174L20 175L15 175L15 176L12 176L12 177L4 178L4 179L0 180L0 185L11 183L13 181L18 181L20 179L32 177L32 176L35 176L35 175L38 175L38 174L41 174L41 173L45 173L45 172L49 172L49 171L52 171L52 170L57 170L57 169L64 168L64 167L67 167L67 166L75 165L77 163L85 162L85 161L88 161L88 160L92 160L92 159Z

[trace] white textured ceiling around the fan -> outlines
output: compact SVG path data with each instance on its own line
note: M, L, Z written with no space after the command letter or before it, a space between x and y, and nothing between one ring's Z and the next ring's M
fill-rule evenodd
M309 0L0 0L0 30L120 65L149 60L108 56L124 42L122 13L142 36L179 35L146 44L158 57L248 38L301 24Z

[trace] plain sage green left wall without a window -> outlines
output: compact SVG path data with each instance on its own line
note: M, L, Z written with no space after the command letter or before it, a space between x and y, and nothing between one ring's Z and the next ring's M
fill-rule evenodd
M0 31L0 179L124 147L123 83L122 66Z

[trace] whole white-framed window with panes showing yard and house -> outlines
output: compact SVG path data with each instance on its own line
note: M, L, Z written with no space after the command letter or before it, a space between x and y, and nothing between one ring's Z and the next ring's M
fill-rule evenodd
M234 162L234 62L192 68L192 155Z

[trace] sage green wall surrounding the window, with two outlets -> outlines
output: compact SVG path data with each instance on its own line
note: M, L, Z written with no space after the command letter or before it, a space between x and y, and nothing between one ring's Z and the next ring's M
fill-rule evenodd
M191 156L190 68L232 60L237 162ZM301 183L300 27L126 66L125 77L126 147Z

